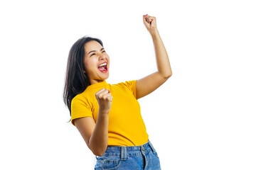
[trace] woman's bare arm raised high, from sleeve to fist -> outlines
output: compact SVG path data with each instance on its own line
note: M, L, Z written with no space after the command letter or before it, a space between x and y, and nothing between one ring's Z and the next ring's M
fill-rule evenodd
M137 99L142 98L159 88L159 86L164 84L164 82L169 79L172 74L169 57L164 47L164 43L161 40L159 31L156 28L156 17L147 15L143 16L143 22L146 26L146 29L149 30L154 43L157 72L137 80Z

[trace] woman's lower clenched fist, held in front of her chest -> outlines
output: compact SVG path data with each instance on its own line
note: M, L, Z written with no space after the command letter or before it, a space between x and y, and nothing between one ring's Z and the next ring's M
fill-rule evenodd
M107 89L100 89L95 93L97 102L99 104L99 113L110 113L110 108L112 105L113 97L110 94L110 91Z

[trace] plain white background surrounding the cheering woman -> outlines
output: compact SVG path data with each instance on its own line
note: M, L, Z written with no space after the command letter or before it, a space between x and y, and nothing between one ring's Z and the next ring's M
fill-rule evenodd
M156 72L142 16L156 17L173 75L139 99L162 169L256 169L254 1L1 1L0 169L93 169L67 123L68 52L110 55L107 83Z

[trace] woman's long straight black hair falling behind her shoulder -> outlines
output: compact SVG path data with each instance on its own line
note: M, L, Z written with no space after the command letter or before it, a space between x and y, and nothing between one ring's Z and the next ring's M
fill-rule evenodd
M63 92L63 100L71 116L71 101L72 99L85 91L87 86L90 86L90 79L87 73L84 73L85 65L83 64L85 57L85 43L95 40L103 47L102 40L92 38L87 35L80 38L72 45L68 54L68 64L65 73L65 86Z

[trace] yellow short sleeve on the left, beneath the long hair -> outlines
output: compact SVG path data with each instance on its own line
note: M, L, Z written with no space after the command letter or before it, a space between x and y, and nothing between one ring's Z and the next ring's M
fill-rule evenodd
M92 111L81 98L73 98L71 101L71 123L74 124L76 118L92 117Z

